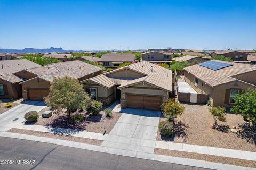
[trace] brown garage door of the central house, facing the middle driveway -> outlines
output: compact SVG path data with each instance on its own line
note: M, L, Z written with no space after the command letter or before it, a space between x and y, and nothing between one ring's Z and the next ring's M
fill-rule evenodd
M158 111L162 104L162 97L127 95L127 107Z

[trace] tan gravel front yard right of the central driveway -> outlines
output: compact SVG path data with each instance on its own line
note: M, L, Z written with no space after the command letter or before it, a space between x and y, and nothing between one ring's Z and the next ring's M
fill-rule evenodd
M159 129L157 140L184 142L202 146L211 146L219 148L237 149L256 151L255 130L242 128L244 126L243 117L241 115L227 114L226 122L218 121L221 129L212 129L214 124L213 117L209 112L209 106L182 104L185 106L185 113L178 117L176 122L178 127L175 127L176 133L172 138L162 138ZM166 120L161 117L160 121ZM230 129L236 127L240 133L235 134L230 132Z

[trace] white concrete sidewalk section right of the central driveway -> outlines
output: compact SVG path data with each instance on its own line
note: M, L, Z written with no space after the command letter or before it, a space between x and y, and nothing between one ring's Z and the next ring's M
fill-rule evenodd
M156 148L256 161L256 152L156 141Z

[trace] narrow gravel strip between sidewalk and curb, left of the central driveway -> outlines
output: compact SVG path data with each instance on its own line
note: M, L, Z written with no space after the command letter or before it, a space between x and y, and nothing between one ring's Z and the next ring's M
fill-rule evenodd
M69 141L88 143L91 145L99 145L99 146L103 142L102 140L79 138L79 137L72 137L69 135L59 135L59 134L54 134L54 133L38 132L38 131L23 130L23 129L16 129L16 128L12 128L12 129L8 130L7 132L28 134L28 135L34 135L37 137L47 137L47 138L54 138L54 139L69 140Z

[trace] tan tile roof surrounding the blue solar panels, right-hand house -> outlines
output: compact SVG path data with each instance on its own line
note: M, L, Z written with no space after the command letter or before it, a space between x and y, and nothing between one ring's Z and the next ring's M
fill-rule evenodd
M236 78L234 78L235 75L243 74L250 71L256 71L256 65L226 62L226 61L219 61L219 60L212 60L212 61L230 63L234 65L214 71L196 64L196 65L185 67L184 70L186 70L190 74L193 74L198 79L203 80L205 83L209 84L209 86L211 87L218 86L223 83L235 81L237 80Z

